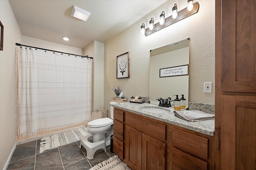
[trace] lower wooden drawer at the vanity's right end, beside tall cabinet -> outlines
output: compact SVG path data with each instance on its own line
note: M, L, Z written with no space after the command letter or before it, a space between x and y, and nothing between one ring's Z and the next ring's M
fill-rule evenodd
M207 162L172 147L172 170L207 170Z

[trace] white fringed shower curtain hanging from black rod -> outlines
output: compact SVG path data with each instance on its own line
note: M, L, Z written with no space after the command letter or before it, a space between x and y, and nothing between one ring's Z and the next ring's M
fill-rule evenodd
M86 124L92 105L92 59L17 47L18 135Z

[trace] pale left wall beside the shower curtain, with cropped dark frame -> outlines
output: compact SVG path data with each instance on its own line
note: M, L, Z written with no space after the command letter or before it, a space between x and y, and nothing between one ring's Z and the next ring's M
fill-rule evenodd
M0 0L0 21L4 25L4 47L0 51L0 169L16 143L15 43L22 34L8 0ZM8 163L8 162L7 162Z

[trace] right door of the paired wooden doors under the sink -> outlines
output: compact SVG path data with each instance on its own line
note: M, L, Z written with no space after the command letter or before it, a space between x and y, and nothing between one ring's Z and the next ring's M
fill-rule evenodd
M142 170L164 170L166 144L142 133Z

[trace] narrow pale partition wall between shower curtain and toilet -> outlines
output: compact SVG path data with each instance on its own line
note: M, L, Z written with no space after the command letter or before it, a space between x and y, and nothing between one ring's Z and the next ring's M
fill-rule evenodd
M93 57L92 110L104 109L104 43L93 41L83 55Z

